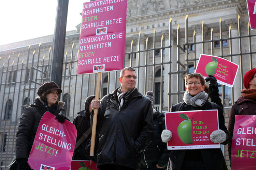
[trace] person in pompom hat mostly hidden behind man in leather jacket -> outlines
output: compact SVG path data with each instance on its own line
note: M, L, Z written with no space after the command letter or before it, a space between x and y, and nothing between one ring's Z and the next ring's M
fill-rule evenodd
M148 91L144 96L151 100L153 107L154 138L150 145L143 151L140 170L165 170L169 160L168 155L171 152L167 150L166 143L163 143L161 140L162 130L165 129L165 115L154 109L153 91Z

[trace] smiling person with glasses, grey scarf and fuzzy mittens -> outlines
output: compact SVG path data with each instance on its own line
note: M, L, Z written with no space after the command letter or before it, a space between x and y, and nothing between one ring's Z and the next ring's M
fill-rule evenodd
M205 80L200 73L191 73L185 77L186 92L184 93L184 104L179 111L196 111L212 109L212 104L207 101L208 94L204 91ZM171 107L175 112L178 104ZM217 105L219 130L213 131L210 140L214 143L226 145L230 140L230 134L225 126L223 109ZM162 132L163 142L168 142L172 137L169 130ZM175 140L175 139L171 139ZM223 170L227 169L221 149L193 149L193 150L171 150L169 154L168 170Z

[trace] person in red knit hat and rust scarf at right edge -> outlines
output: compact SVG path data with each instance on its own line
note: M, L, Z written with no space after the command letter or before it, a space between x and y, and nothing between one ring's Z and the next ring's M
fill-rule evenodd
M241 97L233 104L228 123L228 132L233 137L236 115L256 115L256 68L247 71L243 77L244 88ZM231 163L232 141L228 143L228 156Z

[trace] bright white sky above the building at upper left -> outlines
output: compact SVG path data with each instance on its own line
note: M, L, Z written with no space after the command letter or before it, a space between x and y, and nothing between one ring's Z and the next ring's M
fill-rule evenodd
M81 23L83 3L69 0L67 31ZM57 0L1 0L0 45L54 34Z

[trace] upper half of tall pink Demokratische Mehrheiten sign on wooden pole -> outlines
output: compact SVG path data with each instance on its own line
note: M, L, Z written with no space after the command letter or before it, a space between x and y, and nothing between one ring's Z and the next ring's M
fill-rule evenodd
M127 0L97 0L83 4L80 38L126 31Z

